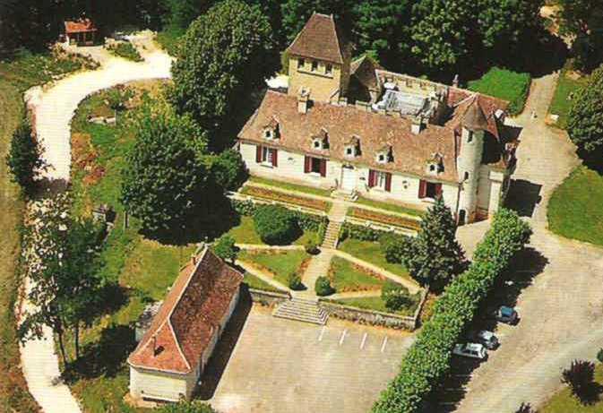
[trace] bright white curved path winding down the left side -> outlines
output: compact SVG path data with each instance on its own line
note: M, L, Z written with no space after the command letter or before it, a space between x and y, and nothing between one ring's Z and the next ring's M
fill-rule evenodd
M101 57L99 70L76 73L56 82L50 89L35 88L27 93L28 104L35 113L35 126L42 143L50 181L69 180L71 165L71 119L82 99L91 93L120 83L145 79L168 78L171 58L155 49L152 42L137 39L144 62L133 63L108 56L99 47L93 48ZM145 51L149 50L149 51ZM27 288L27 280L26 280ZM27 312L30 304L24 302ZM58 380L60 375L52 331L45 328L42 340L29 340L21 346L22 370L33 397L46 413L79 413L81 410L69 388Z

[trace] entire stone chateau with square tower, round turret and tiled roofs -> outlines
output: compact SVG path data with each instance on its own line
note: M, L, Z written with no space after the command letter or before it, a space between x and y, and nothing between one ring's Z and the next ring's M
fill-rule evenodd
M252 175L419 210L443 196L460 225L498 209L518 144L508 102L353 61L329 15L288 53L289 88L268 90L238 135Z

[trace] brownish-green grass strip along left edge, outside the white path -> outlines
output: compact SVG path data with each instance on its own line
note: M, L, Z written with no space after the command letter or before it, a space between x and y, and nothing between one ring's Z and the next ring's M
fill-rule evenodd
M22 52L13 61L0 63L0 411L33 412L33 400L21 371L15 331L14 304L19 280L15 274L22 220L23 202L6 168L4 158L15 127L24 112L22 93L31 86L49 82L53 75L69 73L82 67L82 61L31 55Z

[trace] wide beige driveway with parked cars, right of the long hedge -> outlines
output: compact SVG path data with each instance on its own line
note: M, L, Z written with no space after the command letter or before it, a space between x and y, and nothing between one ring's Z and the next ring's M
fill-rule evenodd
M536 79L524 115L513 120L524 127L513 176L515 203L536 202L526 214L534 230L532 250L516 269L531 278L517 298L521 322L498 326L501 347L473 372L460 413L512 413L521 402L538 407L560 388L561 372L574 358L594 359L603 347L603 249L547 229L551 194L580 164L567 133L544 123L555 86L556 74ZM460 228L469 252L486 228Z

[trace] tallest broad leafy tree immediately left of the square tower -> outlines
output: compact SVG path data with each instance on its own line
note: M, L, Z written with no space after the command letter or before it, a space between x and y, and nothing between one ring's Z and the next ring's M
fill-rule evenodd
M257 6L226 0L186 30L172 65L169 99L180 114L191 114L213 132L212 148L223 148L227 142L220 142L216 131L278 68L268 19Z

